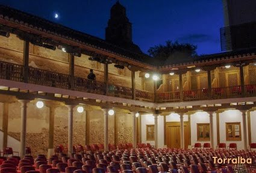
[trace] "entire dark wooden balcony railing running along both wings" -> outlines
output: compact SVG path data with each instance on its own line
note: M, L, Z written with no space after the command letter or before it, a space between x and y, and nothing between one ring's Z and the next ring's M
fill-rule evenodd
M23 82L23 66L0 61L0 79ZM29 67L28 83L47 87L62 88L65 90L81 91L84 93L119 97L123 99L133 99L132 89L128 87L113 85L111 83L106 86L104 82L88 80L81 77L73 77L71 80L71 77L67 74L55 73L34 67ZM202 90L183 91L182 98L180 91L157 93L154 98L154 93L152 92L136 90L136 100L154 102L155 99L156 102L186 102L193 100L256 97L256 85L245 85L244 87L244 90L242 90L242 86L234 86L211 88L210 91L207 88ZM106 92L106 90L108 92ZM244 91L244 93L242 91Z

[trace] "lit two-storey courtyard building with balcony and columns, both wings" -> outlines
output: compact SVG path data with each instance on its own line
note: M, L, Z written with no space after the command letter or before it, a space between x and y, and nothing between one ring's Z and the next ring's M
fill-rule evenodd
M147 55L4 6L0 31L0 149L256 142L255 50L156 67Z

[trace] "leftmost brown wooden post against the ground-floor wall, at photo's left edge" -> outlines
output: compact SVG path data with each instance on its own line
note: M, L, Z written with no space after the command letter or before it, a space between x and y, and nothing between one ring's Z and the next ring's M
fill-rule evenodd
M4 132L3 138L3 148L7 147L7 137L8 137L8 107L9 103L4 103L4 109L2 110L2 132Z

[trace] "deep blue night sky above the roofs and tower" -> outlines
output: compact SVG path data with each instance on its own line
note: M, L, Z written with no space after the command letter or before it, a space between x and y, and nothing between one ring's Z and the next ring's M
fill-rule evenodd
M197 52L221 52L223 27L221 0L120 0L133 23L133 42L147 53L149 47L178 40L198 46ZM27 13L105 39L110 8L116 0L0 0ZM58 19L54 14L59 15Z

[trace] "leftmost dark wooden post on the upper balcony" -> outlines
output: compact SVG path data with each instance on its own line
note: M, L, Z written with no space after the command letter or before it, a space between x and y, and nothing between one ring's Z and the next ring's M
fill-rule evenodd
M30 41L25 40L23 42L23 82L28 83L28 63L30 53Z

